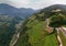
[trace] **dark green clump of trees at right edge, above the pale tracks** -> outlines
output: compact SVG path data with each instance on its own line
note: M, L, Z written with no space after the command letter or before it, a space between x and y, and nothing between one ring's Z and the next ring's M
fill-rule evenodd
M50 26L52 27L59 27L66 24L65 15L54 15L51 18Z

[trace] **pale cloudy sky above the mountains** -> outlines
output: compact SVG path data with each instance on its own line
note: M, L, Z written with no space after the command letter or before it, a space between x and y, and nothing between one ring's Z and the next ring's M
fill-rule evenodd
M52 4L66 4L66 0L0 0L16 8L43 9Z

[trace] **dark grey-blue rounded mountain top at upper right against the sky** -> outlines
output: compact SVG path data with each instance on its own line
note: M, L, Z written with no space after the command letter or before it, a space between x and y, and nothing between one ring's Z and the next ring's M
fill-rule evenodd
M66 4L53 4L47 8L44 8L42 11L51 12L52 10L61 9L62 11L66 12Z

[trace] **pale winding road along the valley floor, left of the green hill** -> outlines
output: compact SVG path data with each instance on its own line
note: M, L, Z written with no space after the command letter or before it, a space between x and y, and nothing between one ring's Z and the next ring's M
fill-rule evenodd
M12 36L12 39L10 42L9 46L14 46L14 44L18 42L19 37L20 37L20 27L22 26L22 22L20 22L19 24L15 24L16 31L15 34Z

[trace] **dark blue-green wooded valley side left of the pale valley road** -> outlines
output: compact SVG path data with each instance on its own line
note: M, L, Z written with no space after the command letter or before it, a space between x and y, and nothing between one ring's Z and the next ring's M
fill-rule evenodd
M23 21L20 16L0 15L0 46L9 46L20 21Z

